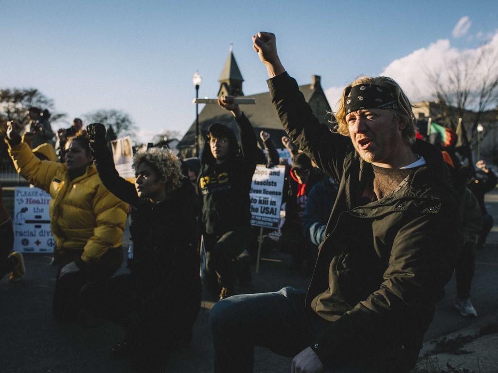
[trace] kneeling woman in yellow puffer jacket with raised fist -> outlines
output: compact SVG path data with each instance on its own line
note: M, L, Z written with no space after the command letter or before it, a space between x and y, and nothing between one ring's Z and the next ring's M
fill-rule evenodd
M110 279L123 262L128 205L102 184L85 134L66 143L66 163L40 161L9 123L6 142L18 173L51 195L50 226L59 266L52 311L56 320L79 317L83 294Z

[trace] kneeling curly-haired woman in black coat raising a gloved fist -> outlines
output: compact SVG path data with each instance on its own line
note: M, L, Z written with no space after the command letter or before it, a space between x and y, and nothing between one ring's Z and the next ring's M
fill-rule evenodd
M151 148L133 157L135 186L118 175L106 130L91 124L90 146L104 185L131 206L130 274L111 279L91 312L124 326L116 357L129 356L137 371L157 372L159 358L192 338L201 304L196 194L170 151ZM135 190L136 187L136 190Z

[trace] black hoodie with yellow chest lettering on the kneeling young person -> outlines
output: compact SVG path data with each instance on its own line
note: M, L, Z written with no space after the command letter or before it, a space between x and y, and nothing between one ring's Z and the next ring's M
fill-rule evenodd
M199 193L203 196L202 221L205 233L221 235L250 226L249 192L256 168L257 142L249 119L236 118L241 148L234 132L227 126L229 156L220 165L211 154L209 141L204 144L199 175Z

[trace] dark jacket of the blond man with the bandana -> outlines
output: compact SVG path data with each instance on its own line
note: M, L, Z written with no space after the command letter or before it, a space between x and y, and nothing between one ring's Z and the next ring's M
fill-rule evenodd
M341 360L406 371L461 246L458 193L442 155L417 140L412 150L426 165L391 194L362 205L372 165L350 138L319 122L287 73L268 87L291 141L339 184L306 297L306 307L330 324L310 346L325 366Z

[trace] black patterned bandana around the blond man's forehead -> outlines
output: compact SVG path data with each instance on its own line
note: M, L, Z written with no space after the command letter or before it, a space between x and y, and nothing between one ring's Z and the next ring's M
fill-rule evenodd
M359 84L346 91L346 114L360 109L399 110L394 92L387 88L369 84Z

